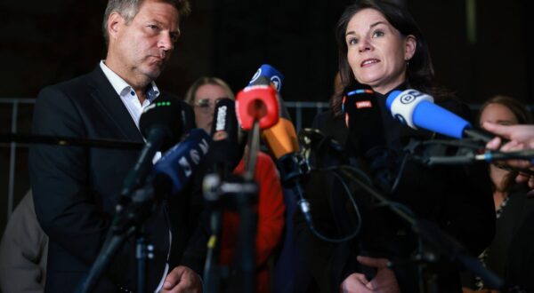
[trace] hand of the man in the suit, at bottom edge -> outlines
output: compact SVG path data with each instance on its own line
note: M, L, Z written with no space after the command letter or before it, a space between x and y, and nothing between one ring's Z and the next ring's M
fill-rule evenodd
M189 267L179 265L167 274L162 293L201 293L202 281Z

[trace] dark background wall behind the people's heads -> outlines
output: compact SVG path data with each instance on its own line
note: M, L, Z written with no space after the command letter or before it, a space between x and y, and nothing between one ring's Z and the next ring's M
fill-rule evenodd
M476 42L469 42L466 3L476 4ZM239 91L270 63L286 75L286 100L326 101L336 74L333 29L348 0L193 0L182 38L158 85L182 95L202 75ZM534 102L533 20L526 0L408 0L433 53L437 80L478 104L496 93ZM36 97L46 84L93 69L103 59L104 0L0 2L0 97ZM0 132L11 125L0 104ZM29 131L31 107L19 130ZM28 189L27 148L17 150L18 202ZM0 232L5 221L10 152L0 144ZM117 178L122 180L122 178Z

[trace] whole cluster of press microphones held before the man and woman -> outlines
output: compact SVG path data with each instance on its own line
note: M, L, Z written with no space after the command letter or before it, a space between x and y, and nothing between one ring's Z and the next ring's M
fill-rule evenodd
M299 144L310 140L324 139L320 131L304 130L297 137L295 126L289 118L287 108L280 98L284 76L270 65L260 67L252 80L231 99L220 99L214 109L214 123L211 133L200 129L190 131L182 138L182 109L175 101L158 101L147 107L141 116L140 128L146 139L138 162L125 179L123 200L131 201L134 189L148 182L155 188L156 196L179 193L187 185L198 167L207 163L210 170L222 176L230 174L243 157L247 131L257 123L265 146L276 159L280 178L284 186L295 187L300 176L308 173L312 166L303 155ZM365 84L358 84L344 90L343 111L349 132L359 138L360 143L352 150L337 147L338 151L371 156L369 150L385 145L384 137L376 131L382 127L374 91ZM506 159L532 160L531 150L503 153L483 151L483 145L494 136L477 130L458 115L433 103L433 97L417 90L392 91L386 100L386 107L400 123L413 129L433 131L454 139L467 139L478 143L477 152L454 156L419 157L428 165L458 164L477 161L492 162ZM365 127L373 125L373 127ZM376 126L378 125L378 126ZM319 134L318 134L319 133ZM318 138L319 137L319 138ZM330 142L336 148L336 142ZM173 147L174 146L174 147ZM150 169L151 159L158 151L165 151L162 158ZM313 151L313 150L312 150ZM388 176L387 173L383 173ZM119 204L118 210L121 205ZM306 214L309 209L304 202L301 207Z

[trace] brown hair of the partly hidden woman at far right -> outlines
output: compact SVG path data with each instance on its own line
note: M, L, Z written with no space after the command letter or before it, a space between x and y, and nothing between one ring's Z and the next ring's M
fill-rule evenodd
M521 101L504 95L496 95L482 104L479 109L477 123L480 123L482 112L490 104L498 104L507 107L514 114L518 124L530 124L533 121L529 109ZM513 190L516 176L517 171L511 171L506 175L502 191L509 193ZM493 188L497 188L497 186L493 186Z

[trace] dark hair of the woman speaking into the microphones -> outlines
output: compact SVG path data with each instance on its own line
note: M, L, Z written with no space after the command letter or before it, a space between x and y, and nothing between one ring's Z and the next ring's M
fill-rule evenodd
M345 41L345 33L352 16L366 8L372 8L377 12L381 12L385 19L389 21L393 28L396 28L402 36L415 36L417 48L414 56L409 59L406 75L407 81L411 88L417 89L418 91L433 93L433 65L425 36L423 36L423 33L418 28L416 20L414 20L405 7L384 0L357 1L345 8L343 14L337 21L336 41L339 55L339 72L344 86L346 87L357 83L356 78L352 73L351 66L349 65L349 61L347 60L348 48ZM341 97L334 97L331 100L331 106L334 113L338 115L341 108Z

